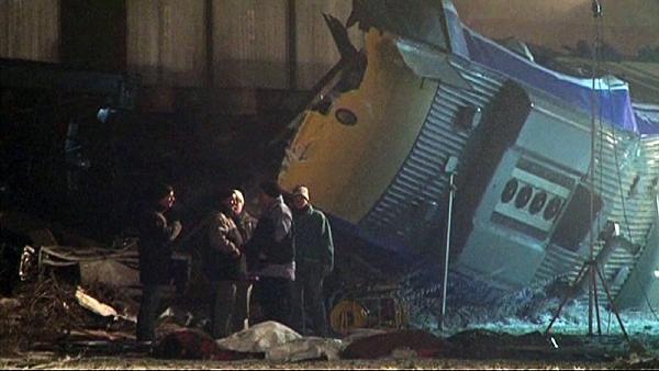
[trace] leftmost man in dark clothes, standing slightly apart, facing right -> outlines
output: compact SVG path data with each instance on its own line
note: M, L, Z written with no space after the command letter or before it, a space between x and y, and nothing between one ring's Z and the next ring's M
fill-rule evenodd
M137 340L156 340L156 318L160 302L171 282L171 241L181 232L180 222L169 223L174 189L156 184L147 193L147 207L139 217L139 282L142 302L137 315Z

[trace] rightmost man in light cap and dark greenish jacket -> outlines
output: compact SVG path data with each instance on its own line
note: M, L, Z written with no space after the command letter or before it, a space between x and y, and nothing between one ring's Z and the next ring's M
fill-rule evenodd
M297 280L293 289L293 318L298 330L305 331L306 308L312 329L317 336L327 336L323 281L334 268L334 243L330 221L313 207L309 189L293 190L293 244L295 246Z

